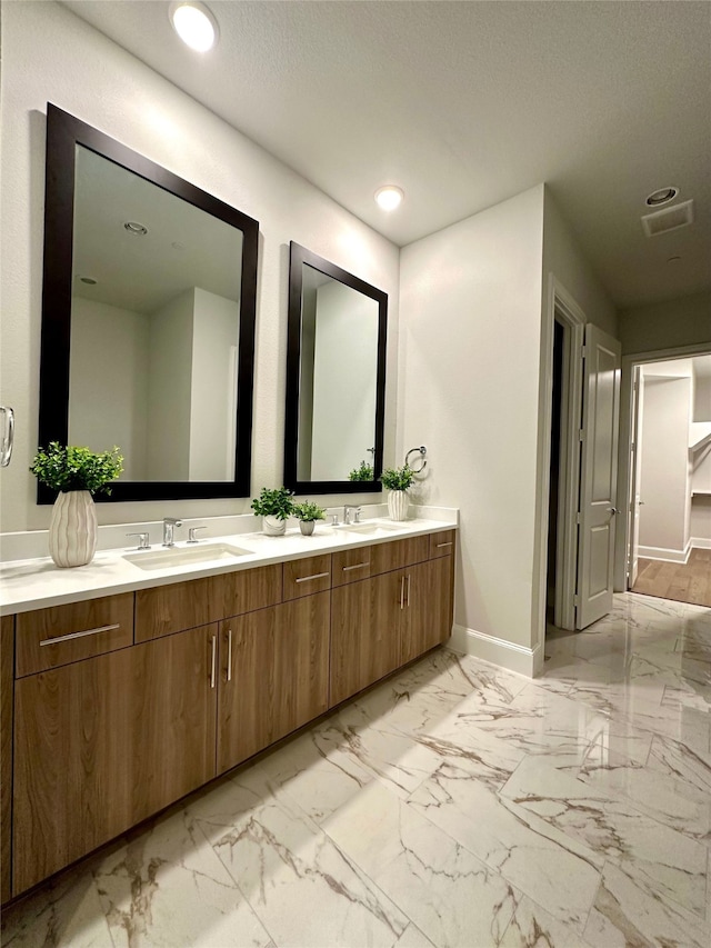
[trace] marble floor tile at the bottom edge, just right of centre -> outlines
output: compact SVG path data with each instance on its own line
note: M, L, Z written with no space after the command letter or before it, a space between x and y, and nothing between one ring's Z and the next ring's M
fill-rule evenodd
M379 784L326 831L433 945L497 945L519 894L464 847Z

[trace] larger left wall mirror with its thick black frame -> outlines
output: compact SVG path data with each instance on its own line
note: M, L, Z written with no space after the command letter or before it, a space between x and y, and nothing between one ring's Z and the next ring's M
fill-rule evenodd
M48 103L39 443L118 446L97 500L249 497L258 241L258 221Z

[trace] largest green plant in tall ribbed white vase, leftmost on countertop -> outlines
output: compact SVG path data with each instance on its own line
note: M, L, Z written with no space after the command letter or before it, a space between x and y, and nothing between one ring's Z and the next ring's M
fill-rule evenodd
M93 493L111 492L110 481L123 470L118 448L94 453L89 448L50 441L38 448L30 471L58 490L49 528L50 556L62 568L86 566L97 550L97 511Z

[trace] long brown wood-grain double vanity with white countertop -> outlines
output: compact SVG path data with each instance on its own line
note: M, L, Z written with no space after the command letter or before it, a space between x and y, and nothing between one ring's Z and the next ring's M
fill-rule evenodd
M3 902L451 633L455 521L230 539L3 578Z

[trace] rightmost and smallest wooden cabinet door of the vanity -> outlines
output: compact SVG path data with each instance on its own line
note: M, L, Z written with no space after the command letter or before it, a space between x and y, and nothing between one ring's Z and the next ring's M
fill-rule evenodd
M444 556L404 570L401 665L447 641L452 632L451 563Z

